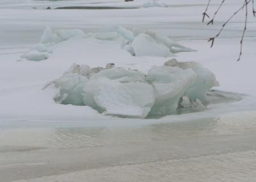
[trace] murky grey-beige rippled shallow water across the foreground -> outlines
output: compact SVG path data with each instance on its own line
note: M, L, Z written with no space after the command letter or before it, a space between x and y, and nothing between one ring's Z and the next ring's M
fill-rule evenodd
M250 181L255 121L255 112L240 112L131 127L8 128L0 181Z

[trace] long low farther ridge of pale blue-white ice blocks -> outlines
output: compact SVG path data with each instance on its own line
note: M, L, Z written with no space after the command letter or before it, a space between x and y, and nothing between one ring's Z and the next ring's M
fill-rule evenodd
M122 26L106 26L102 28L101 32L84 33L81 29L52 30L51 27L47 26L41 36L40 43L31 47L31 51L22 57L25 59L28 57L30 61L47 59L48 56L38 59L35 57L33 51L51 53L51 47L53 45L74 37L115 41L119 43L123 50L129 52L132 56L173 57L173 53L195 51L180 45L167 36L143 29L132 29L131 31ZM33 60L34 57L35 60Z

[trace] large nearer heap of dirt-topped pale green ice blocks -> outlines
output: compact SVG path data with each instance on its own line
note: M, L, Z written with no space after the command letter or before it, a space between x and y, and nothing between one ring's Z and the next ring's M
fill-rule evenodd
M147 74L113 63L106 68L73 64L51 83L60 92L54 98L58 103L88 105L111 116L146 118L176 114L178 107L203 108L207 91L218 82L200 64L172 59L152 66Z

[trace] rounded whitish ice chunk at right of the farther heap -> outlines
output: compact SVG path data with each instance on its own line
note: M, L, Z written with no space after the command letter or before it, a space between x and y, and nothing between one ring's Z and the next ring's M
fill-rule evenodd
M157 43L154 38L148 34L139 34L132 42L136 56L157 56L172 57L174 56L168 47L161 43Z

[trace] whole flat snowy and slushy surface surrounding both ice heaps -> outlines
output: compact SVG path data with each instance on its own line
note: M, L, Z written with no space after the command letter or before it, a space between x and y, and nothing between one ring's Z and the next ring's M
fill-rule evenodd
M213 26L201 22L205 0L165 0L161 3L168 8L143 8L147 2L0 1L0 181L256 178L256 20L252 16L248 20L243 56L237 62L243 13L227 26L212 49L207 38L216 34L240 0L228 1ZM212 1L210 10L216 10L218 3ZM48 6L52 9L45 10ZM63 6L134 9L53 9ZM117 42L74 38L54 45L49 59L17 61L40 41L46 26L100 33L109 25L148 29L198 50L180 52L175 58L202 63L220 82L216 89L240 93L243 99L160 119L113 118L90 107L55 103L56 93L42 87L61 77L73 63L92 67L115 63L147 73L172 57L131 56Z

